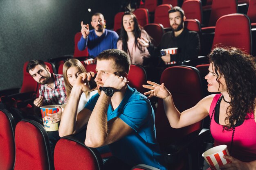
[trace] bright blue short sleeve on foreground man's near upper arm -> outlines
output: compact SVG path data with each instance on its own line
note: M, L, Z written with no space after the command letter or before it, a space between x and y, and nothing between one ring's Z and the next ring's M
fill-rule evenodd
M151 117L152 107L146 98L128 102L124 107L123 113L119 114L119 118L128 124L136 132L149 121Z

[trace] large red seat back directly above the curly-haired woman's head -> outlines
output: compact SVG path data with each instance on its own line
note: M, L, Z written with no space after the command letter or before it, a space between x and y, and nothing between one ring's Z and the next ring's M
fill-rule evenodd
M252 35L249 18L244 14L229 14L220 17L216 23L212 48L216 45L240 48L251 54Z

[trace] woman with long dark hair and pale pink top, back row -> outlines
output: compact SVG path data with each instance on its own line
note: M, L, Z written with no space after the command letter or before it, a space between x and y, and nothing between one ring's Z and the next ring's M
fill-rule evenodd
M133 13L124 13L122 21L117 48L127 52L132 64L144 65L144 59L150 57L147 49L150 37L145 30L141 29Z

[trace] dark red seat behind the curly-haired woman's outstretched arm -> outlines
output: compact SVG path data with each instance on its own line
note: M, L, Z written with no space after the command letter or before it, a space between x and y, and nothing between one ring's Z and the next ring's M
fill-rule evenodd
M166 68L161 75L160 83L171 92L176 108L182 112L195 106L202 99L202 87L199 71L189 66L172 66ZM155 115L157 141L163 148L185 135L201 128L198 122L180 129L173 129L166 117L163 100L158 100Z

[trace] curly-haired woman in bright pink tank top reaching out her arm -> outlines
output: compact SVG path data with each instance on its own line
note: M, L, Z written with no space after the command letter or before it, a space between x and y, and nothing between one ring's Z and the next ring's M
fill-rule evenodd
M211 135L215 145L226 144L231 163L225 170L256 169L256 61L237 48L215 48L209 54L209 74L205 76L209 95L197 105L180 113L164 84L148 81L148 98L164 101L166 116L173 128L194 124L210 116Z

